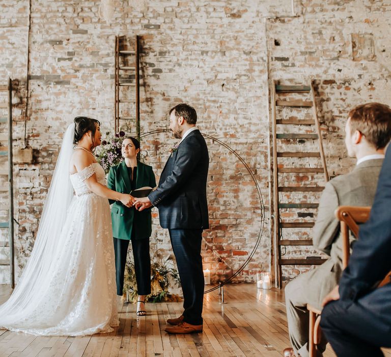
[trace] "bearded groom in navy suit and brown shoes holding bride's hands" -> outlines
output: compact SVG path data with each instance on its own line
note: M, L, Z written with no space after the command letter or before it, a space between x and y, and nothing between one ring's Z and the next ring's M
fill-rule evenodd
M170 110L170 129L181 141L161 173L157 189L148 197L137 198L139 211L151 206L159 210L160 225L169 228L183 291L183 314L168 319L170 334L202 332L204 274L201 258L202 231L209 228L206 182L208 148L195 127L197 113L187 104Z

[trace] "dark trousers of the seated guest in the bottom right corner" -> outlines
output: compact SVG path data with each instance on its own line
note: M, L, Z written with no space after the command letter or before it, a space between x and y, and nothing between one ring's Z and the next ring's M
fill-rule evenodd
M337 300L324 307L320 325L337 356L377 357L384 355L380 347L391 347L391 325L382 317L381 305L376 304L380 299L372 295L381 290L356 302Z

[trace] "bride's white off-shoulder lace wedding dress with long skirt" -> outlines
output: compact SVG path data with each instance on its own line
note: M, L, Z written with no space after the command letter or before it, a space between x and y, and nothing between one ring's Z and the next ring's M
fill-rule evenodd
M83 336L107 333L119 324L109 203L84 182L94 173L105 185L105 172L98 163L68 173L65 182L70 181L75 194L61 233L50 237L38 232L31 264L0 306L1 328L42 336Z

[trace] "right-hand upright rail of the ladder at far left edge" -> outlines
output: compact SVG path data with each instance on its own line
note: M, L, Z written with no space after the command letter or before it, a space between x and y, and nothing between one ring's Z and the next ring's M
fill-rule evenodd
M28 95L28 93L27 93ZM27 108L26 108L27 110ZM14 186L12 165L12 81L8 80L8 234L10 239L10 274L11 288L15 287L15 250L14 250Z

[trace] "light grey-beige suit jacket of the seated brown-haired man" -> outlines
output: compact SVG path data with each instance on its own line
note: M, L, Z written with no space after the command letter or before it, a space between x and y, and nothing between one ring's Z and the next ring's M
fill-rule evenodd
M342 274L342 236L334 211L339 206L372 206L382 162L383 159L364 161L350 173L334 177L324 188L313 244L330 259L297 278L297 284L306 289L308 303L315 307L320 308L323 298L338 284Z

